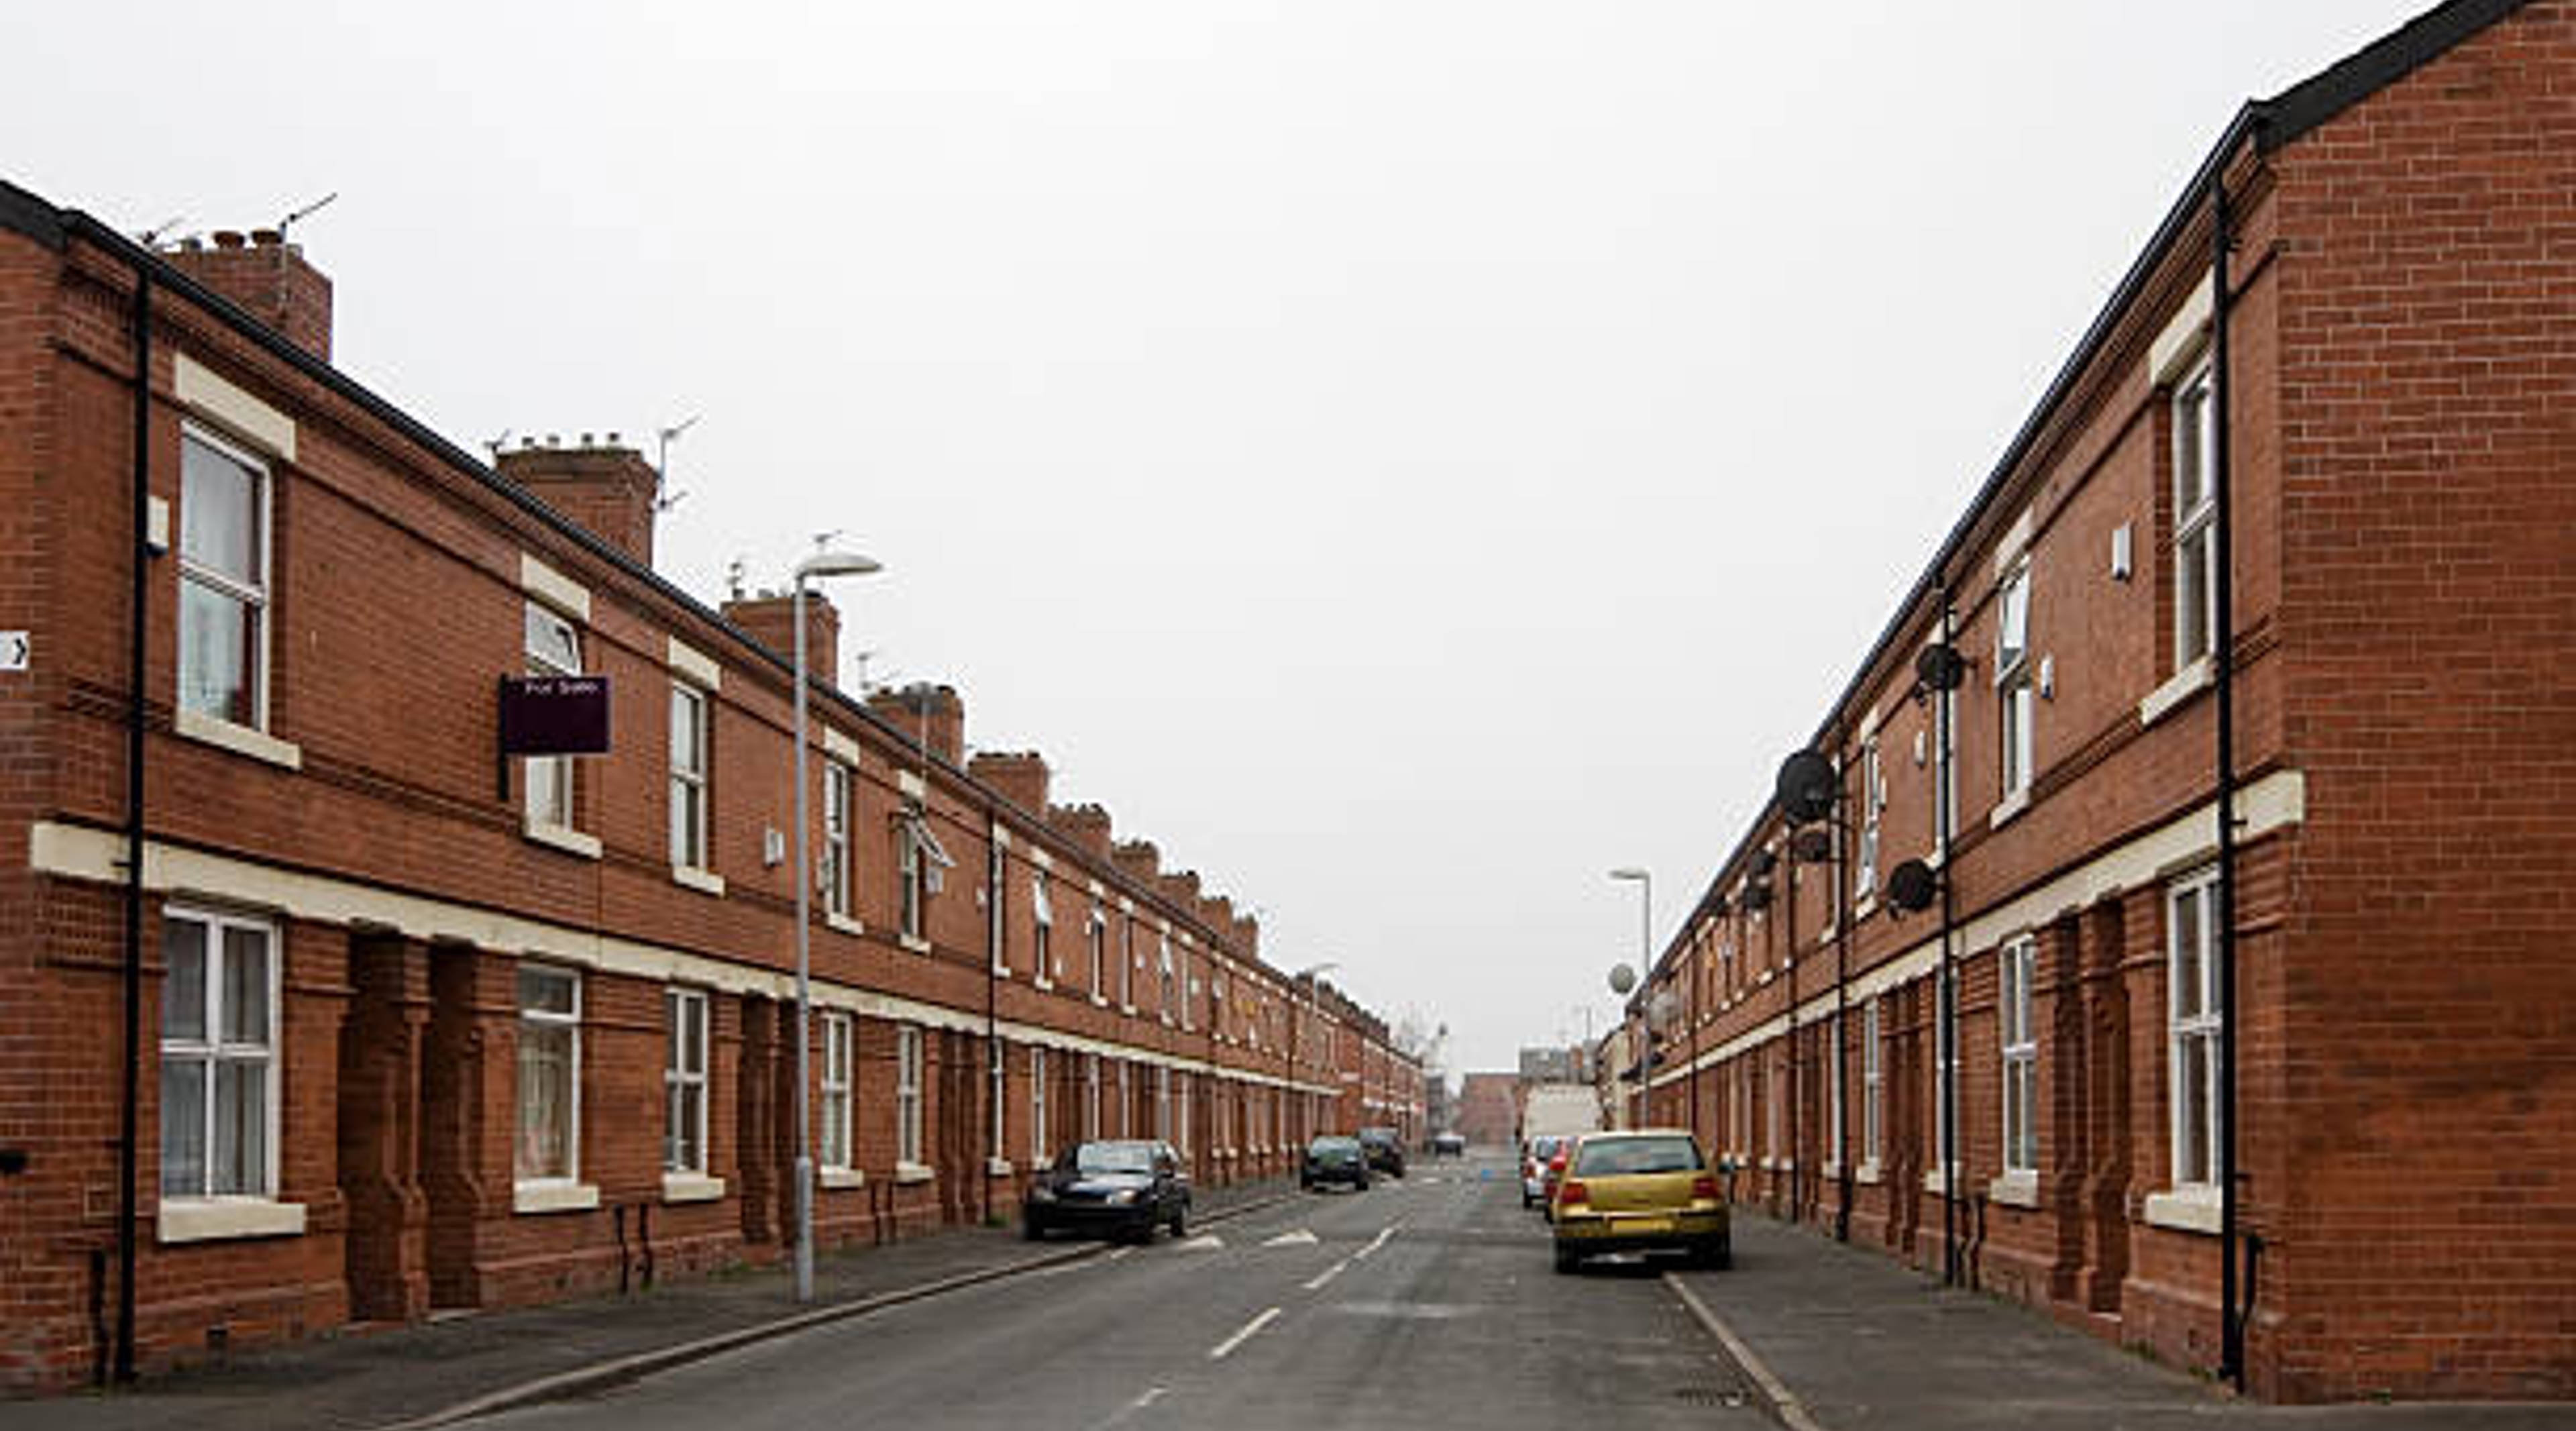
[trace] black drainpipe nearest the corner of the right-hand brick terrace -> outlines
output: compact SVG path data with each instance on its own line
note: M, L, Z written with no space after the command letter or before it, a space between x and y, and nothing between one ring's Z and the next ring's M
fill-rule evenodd
M2228 513L2228 217L2226 160L2210 170L2210 425L2218 505L2210 670L2218 681L2218 1374L2246 1390L2246 1328L2236 1310L2236 554Z

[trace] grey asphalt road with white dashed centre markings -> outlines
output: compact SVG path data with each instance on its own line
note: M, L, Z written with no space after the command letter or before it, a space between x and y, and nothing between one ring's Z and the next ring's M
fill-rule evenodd
M1762 1426L1643 1266L1548 1266L1510 1163L1417 1163L1100 1258L768 1341L510 1428Z

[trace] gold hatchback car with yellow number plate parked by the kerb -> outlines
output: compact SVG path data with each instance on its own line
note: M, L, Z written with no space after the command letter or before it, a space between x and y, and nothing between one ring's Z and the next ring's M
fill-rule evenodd
M1595 1253L1680 1251L1728 1266L1726 1196L1700 1142L1682 1129L1587 1132L1548 1204L1556 1271Z

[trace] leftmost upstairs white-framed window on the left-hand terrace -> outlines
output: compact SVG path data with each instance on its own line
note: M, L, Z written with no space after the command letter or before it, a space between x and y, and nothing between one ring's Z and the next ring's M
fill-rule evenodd
M180 433L178 709L268 730L268 467Z

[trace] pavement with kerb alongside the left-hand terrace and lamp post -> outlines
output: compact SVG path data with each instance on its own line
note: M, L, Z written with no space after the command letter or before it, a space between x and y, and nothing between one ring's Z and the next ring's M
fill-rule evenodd
M1198 1189L1211 1225L1296 1199L1288 1178ZM945 1227L814 1261L814 1305L786 1266L662 1281L629 1297L440 1315L422 1325L245 1351L131 1390L0 1400L8 1431L428 1431L531 1400L716 1356L979 1281L1103 1256L1103 1243L1025 1243L1018 1227Z

